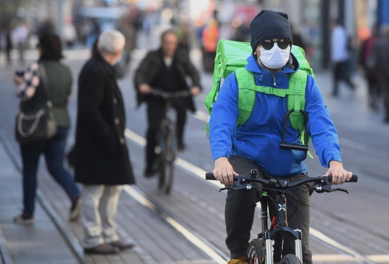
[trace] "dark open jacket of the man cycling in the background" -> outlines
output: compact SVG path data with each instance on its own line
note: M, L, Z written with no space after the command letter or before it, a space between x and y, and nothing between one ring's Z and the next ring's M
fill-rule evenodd
M180 83L184 84L184 86L181 88L182 90L189 89L186 83L186 77L188 76L192 80L192 86L198 86L201 88L200 76L195 66L192 64L187 52L177 49L176 53L174 54L173 63L176 64L177 70L179 72L179 78L181 78ZM151 51L147 53L139 68L136 70L134 81L135 88L138 92L138 105L140 105L147 98L147 96L139 92L139 86L141 84L150 85L159 71L162 69L163 64L162 49L159 49L157 51ZM192 96L185 100L187 100L187 108L195 112L195 104L193 102Z

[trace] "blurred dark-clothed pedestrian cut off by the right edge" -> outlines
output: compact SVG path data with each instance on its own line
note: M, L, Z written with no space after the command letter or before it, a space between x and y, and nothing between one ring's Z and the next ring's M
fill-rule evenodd
M371 56L371 64L377 71L379 87L384 94L384 122L389 123L389 25L382 26L381 37L374 45Z

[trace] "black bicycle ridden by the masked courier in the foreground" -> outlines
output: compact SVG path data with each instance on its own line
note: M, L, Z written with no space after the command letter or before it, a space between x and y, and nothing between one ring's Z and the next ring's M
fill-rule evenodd
M261 199L261 220L262 220L262 233L258 234L258 238L252 240L248 247L248 264L302 264L302 249L301 249L301 238L302 233L300 229L292 230L287 225L286 217L286 197L284 194L291 189L308 189L313 190L317 193L331 193L335 191L342 191L349 193L345 189L332 189L331 182L332 176L316 176L301 179L299 181L290 182L289 180L265 180L259 177L257 170L251 170L250 176L234 176L233 187L225 187L222 190L236 190L236 191L249 191L249 190L262 190ZM216 180L213 173L207 173L205 178L207 180ZM357 182L358 177L353 175L348 182ZM313 187L300 187L305 183L315 183ZM347 182L347 181L346 181ZM264 187L256 187L250 183L261 183ZM267 196L266 190L277 191L276 199L273 200L270 196ZM219 192L220 192L219 191ZM307 192L308 192L307 191ZM292 194L290 194L292 195ZM293 195L292 195L293 196ZM268 228L268 198L272 199L274 205L278 205L275 215L275 221L272 221L272 225ZM273 216L274 217L274 216ZM287 254L282 256L282 249L284 235L291 235L295 240L295 255ZM274 246L273 246L274 241ZM293 245L293 244L292 244Z

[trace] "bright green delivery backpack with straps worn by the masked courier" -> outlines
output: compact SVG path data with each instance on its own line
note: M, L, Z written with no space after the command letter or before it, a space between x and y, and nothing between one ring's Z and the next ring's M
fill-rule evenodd
M305 87L307 83L307 73L313 74L313 70L305 59L304 50L298 46L292 45L291 52L300 64L300 69L290 76L289 87L287 89L271 88L255 85L254 74L246 70L247 58L252 53L250 43L243 43L222 39L217 44L215 68L213 70L212 90L205 99L205 106L208 110L208 122L206 126L207 136L209 137L209 121L211 118L212 104L217 100L217 94L224 80L235 72L239 88L239 116L236 126L246 123L254 108L256 95L255 93L263 92L280 97L287 96L287 110L295 111L289 115L289 121L292 127L300 131L301 141L304 142L304 116L300 109L305 109ZM308 152L308 155L312 155Z

